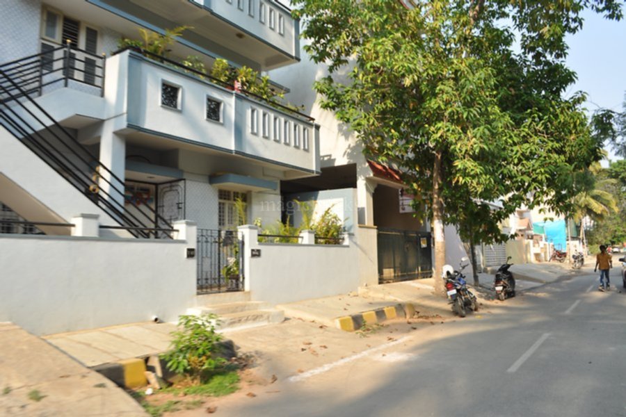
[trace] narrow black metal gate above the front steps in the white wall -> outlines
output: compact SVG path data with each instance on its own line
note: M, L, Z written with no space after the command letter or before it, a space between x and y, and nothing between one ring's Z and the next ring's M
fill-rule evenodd
M236 231L198 229L198 294L243 291L242 255Z

